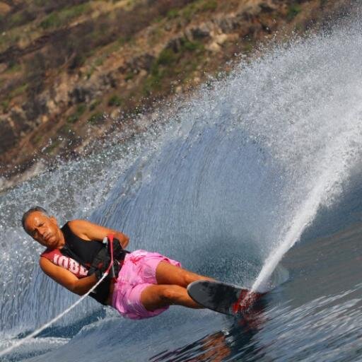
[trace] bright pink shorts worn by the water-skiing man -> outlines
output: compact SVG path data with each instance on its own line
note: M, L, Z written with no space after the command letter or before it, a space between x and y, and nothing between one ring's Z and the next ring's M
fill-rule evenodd
M141 303L141 293L144 288L157 284L156 267L159 262L168 262L181 267L176 260L146 250L135 250L124 258L112 296L112 307L123 317L141 320L159 315L168 309L165 307L149 311Z

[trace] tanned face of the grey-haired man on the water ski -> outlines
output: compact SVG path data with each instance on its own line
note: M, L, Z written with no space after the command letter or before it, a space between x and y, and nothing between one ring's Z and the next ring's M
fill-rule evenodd
M60 241L61 231L57 220L40 211L34 211L26 218L25 230L34 240L46 247L57 247Z

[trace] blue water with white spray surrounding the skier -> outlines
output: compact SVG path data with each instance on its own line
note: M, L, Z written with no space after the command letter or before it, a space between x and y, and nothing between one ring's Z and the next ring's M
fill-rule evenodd
M361 360L361 52L358 21L276 46L126 144L4 191L0 351L77 300L37 266L19 225L34 204L271 291L238 318L172 306L134 321L86 300L1 361Z

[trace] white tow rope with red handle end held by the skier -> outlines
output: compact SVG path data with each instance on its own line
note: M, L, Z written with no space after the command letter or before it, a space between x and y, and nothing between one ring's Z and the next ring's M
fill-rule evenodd
M84 294L83 296L81 296L81 298L79 298L78 300L76 300L75 303L73 303L69 308L67 308L66 310L64 310L62 313L60 313L59 315L57 315L57 317L54 317L52 320L49 320L49 322L45 323L45 325L42 325L42 327L36 329L33 333L28 334L28 336L24 337L23 339L20 339L19 341L16 341L15 343L13 343L11 346L9 346L6 349L3 349L2 351L0 351L0 357L4 356L5 354L8 354L9 352L13 351L13 349L15 349L18 346L21 346L21 344L25 343L25 341L28 341L29 339L35 337L37 334L39 334L40 332L42 332L44 329L46 329L47 327L49 327L50 325L52 325L54 322L57 322L57 320L59 320L60 318L62 318L64 315L66 315L66 313L69 313L74 307L76 307L76 305L78 305L79 303L81 303L81 301L86 298L90 293L92 293L95 288L97 288L97 286L102 283L102 281L105 279L105 277L109 274L110 269L113 268L113 235L109 234L107 235L104 239L103 239L103 243L108 243L110 241L110 265L107 267L107 270L105 271L105 273L103 274L102 278L99 279L99 281L91 288L89 289L89 291ZM112 269L113 271L113 275L114 274L114 269Z

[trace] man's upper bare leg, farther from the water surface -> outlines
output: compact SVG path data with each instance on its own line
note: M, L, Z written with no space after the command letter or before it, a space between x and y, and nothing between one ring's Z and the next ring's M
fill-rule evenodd
M156 280L157 284L172 284L186 288L192 281L214 279L175 267L168 262L159 262L156 268Z

